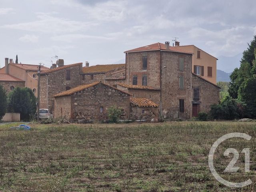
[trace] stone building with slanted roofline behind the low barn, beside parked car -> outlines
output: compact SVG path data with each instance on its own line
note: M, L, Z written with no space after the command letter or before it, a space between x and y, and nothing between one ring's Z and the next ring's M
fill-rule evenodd
M53 67L41 72L40 108L54 111L54 95L81 85L82 63Z

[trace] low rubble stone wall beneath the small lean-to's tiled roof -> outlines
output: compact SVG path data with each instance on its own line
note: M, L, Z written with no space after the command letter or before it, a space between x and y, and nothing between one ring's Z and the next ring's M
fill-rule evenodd
M158 121L158 108L157 107L138 107L131 106L130 118L132 120L147 120Z

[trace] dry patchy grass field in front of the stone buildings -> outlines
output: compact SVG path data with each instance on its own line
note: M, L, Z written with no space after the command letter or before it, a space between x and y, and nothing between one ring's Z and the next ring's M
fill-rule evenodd
M168 122L159 124L0 126L0 191L255 191L256 123ZM220 136L243 132L250 142L230 139L214 158L227 180L253 184L241 189L219 184L208 153ZM223 174L232 159L226 148L250 148L251 172ZM238 166L244 166L240 155Z

